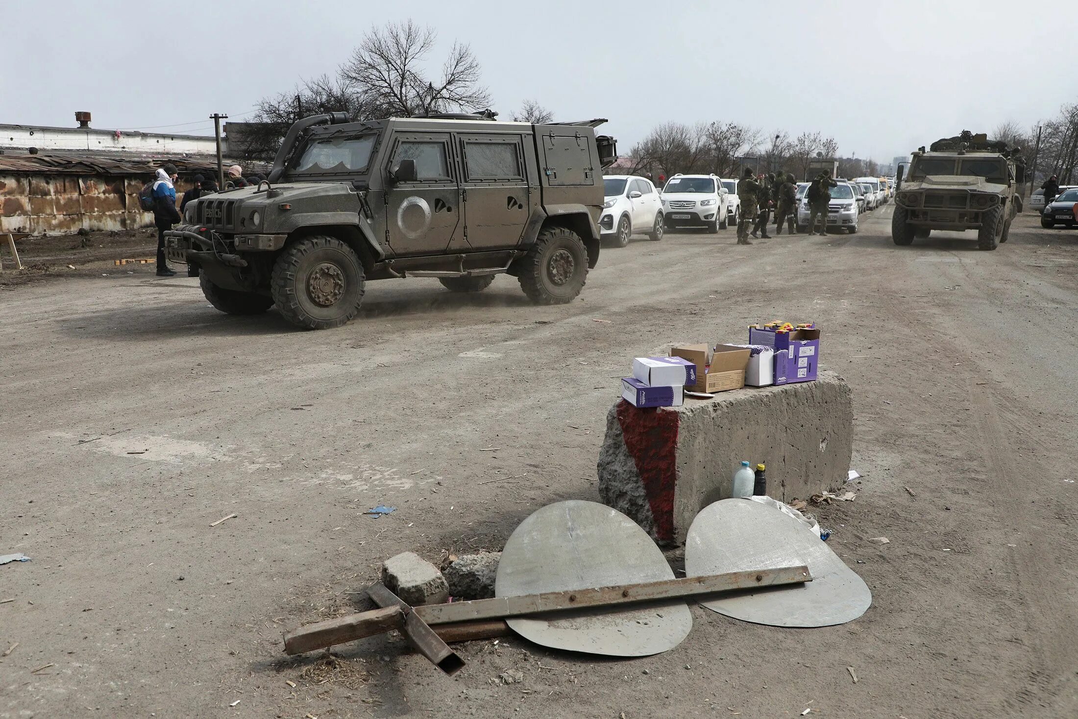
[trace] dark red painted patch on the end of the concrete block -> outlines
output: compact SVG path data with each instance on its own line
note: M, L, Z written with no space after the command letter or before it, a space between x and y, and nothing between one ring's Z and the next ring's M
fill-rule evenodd
M640 473L644 493L655 522L655 536L674 541L674 485L677 482L678 413L640 410L618 402L618 424L625 447Z

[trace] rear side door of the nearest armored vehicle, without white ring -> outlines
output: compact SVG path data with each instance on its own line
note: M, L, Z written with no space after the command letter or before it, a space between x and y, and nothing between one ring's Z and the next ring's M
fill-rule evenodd
M465 239L472 249L516 247L528 222L531 191L520 135L460 135Z

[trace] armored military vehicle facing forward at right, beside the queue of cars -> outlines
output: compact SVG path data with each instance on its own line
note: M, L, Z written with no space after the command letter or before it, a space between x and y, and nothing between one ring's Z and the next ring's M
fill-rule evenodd
M896 245L928 237L932 230L976 230L982 250L1007 241L1022 211L1025 166L1020 148L965 130L913 153L898 176L890 236Z

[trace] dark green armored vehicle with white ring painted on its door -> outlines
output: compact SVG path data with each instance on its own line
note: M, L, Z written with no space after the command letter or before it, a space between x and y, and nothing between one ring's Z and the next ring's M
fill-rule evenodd
M567 303L598 261L602 168L616 160L604 122L306 117L258 188L190 203L166 252L198 269L218 309L276 305L306 329L355 317L371 279L474 292L505 273L538 304Z

